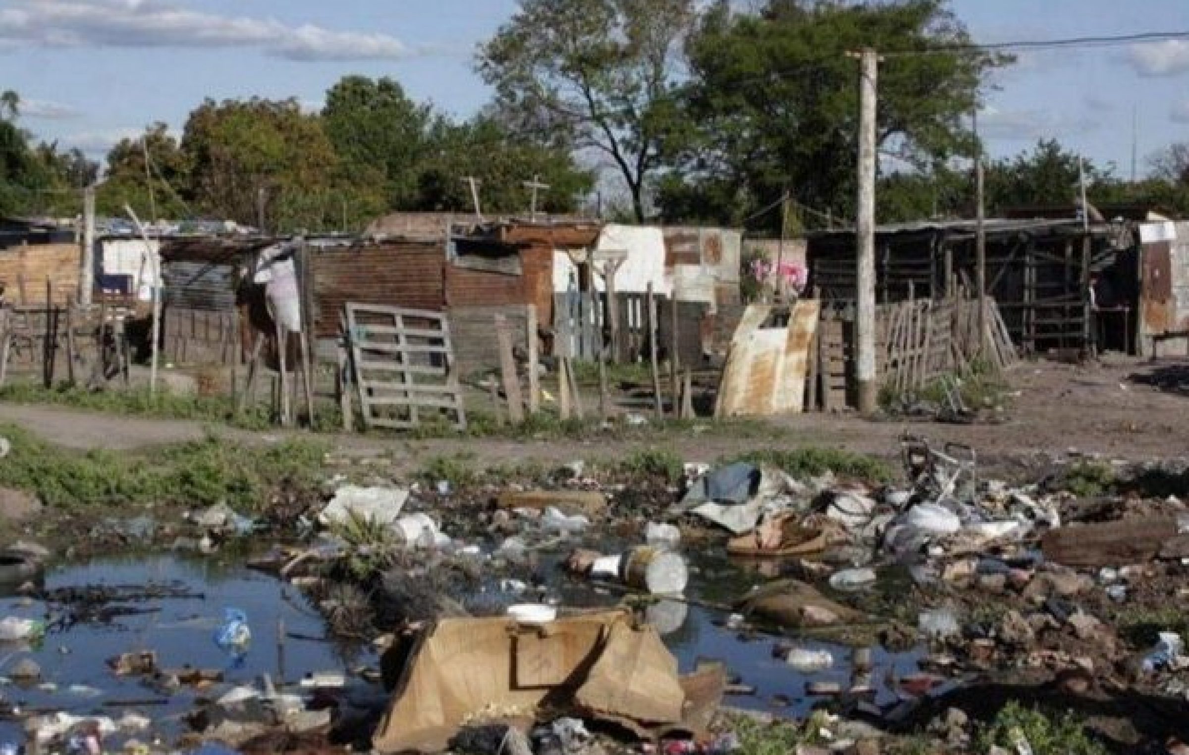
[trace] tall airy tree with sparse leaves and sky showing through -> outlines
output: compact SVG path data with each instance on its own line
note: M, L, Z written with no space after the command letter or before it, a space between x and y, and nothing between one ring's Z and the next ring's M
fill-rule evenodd
M681 42L692 0L521 0L478 70L520 130L593 150L627 184L637 221L663 145L681 130Z

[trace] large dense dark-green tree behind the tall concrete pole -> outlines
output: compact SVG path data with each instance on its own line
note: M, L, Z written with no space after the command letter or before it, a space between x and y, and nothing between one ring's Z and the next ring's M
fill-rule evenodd
M858 87L847 54L864 46L886 54L880 151L923 172L969 155L964 118L983 74L1008 62L963 46L969 42L944 0L769 0L757 13L718 0L686 45L685 112L694 132L677 145L677 170L661 182L663 215L697 208L737 224L787 190L803 206L849 216ZM779 215L767 218L779 225Z

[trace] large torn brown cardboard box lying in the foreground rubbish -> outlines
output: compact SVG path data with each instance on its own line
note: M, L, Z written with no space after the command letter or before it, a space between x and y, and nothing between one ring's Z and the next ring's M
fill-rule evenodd
M722 667L678 677L677 659L627 611L545 625L497 616L445 618L404 648L392 700L372 740L380 753L446 749L468 723L528 725L577 715L642 737L698 732L722 698Z

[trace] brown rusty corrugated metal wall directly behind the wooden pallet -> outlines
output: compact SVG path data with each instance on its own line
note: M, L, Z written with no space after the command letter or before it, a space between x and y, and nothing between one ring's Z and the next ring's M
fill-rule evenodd
M310 254L315 333L339 332L346 302L429 309L446 306L446 252L440 244L392 243Z

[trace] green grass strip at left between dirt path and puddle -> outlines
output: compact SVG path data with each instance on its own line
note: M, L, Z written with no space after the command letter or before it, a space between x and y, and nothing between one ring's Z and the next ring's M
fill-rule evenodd
M29 490L49 507L127 503L265 508L283 485L313 490L325 447L308 440L249 446L208 436L155 449L151 455L86 453L52 446L13 426L0 427L12 451L0 463L0 485Z

